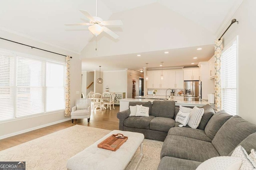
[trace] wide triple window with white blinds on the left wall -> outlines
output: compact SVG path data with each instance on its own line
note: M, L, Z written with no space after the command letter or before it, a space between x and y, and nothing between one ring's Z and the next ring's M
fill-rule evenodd
M65 65L0 51L0 121L65 108Z

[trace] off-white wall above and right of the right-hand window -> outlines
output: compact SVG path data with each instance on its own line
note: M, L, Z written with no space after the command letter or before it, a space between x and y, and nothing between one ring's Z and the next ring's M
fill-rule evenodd
M252 123L256 123L255 7L255 0L244 0L226 27L233 18L238 20L239 24L234 23L223 37L225 46L238 35L238 115Z

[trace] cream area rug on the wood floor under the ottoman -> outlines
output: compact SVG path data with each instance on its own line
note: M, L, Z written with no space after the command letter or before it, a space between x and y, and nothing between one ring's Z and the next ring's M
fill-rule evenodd
M110 130L74 125L61 131L0 151L0 161L26 161L26 170L65 170L67 160L92 145ZM144 139L139 170L155 170L163 142ZM137 152L140 152L138 149Z

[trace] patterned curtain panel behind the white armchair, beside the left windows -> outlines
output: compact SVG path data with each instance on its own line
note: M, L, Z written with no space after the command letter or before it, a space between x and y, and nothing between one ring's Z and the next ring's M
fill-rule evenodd
M70 57L66 56L65 116L70 116Z

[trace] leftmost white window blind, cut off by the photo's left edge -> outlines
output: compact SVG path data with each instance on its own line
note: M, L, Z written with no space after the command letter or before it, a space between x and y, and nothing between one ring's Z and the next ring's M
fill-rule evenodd
M0 121L14 117L14 57L0 51Z

